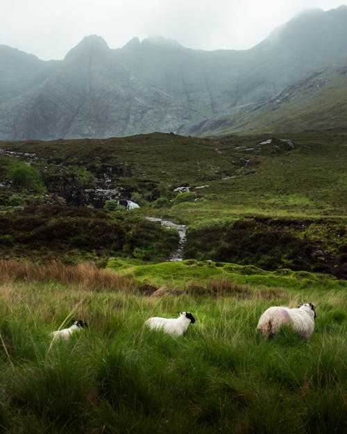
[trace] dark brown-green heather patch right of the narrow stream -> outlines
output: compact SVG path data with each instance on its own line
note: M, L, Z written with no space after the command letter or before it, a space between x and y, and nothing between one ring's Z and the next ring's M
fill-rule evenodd
M314 236L317 231L320 236ZM346 278L340 231L339 222L333 221L260 217L236 222L212 220L188 229L185 257L253 264L264 269L325 272ZM328 237L329 242L325 242Z

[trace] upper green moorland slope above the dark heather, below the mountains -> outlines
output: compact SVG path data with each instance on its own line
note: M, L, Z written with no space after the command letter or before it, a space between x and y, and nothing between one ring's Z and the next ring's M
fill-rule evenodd
M270 137L271 132L211 139L153 133L105 140L1 142L0 147L35 153L38 160L32 164L50 192L59 192L62 176L76 183L60 165L83 168L96 177L107 173L111 186L121 185L150 203L160 196L173 199L175 187L189 185L205 201L151 208L153 214L186 224L226 215L344 217L346 129L276 136L294 142L290 151L259 144ZM6 181L10 161L0 155L0 181ZM1 192L6 204L6 187Z

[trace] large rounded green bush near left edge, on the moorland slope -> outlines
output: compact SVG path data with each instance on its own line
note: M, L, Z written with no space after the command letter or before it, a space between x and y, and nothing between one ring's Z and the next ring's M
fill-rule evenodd
M7 176L15 185L27 187L37 192L46 192L40 171L35 169L35 167L26 165L25 162L10 162L7 168Z

